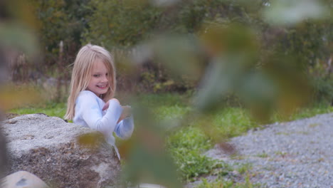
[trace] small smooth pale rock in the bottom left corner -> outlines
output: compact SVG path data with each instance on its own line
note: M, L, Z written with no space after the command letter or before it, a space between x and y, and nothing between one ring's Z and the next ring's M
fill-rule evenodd
M49 188L43 180L26 171L18 171L4 178L3 188Z

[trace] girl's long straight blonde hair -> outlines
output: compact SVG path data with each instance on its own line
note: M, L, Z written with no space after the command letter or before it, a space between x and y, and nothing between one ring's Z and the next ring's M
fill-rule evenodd
M116 79L115 79L115 63L111 54L100 46L87 44L83 46L74 61L72 79L70 80L70 95L67 101L67 111L65 114L66 120L73 120L75 115L75 100L81 91L88 88L88 84L91 79L91 71L95 60L99 58L105 63L108 70L108 80L110 84L107 93L99 96L107 102L115 95Z

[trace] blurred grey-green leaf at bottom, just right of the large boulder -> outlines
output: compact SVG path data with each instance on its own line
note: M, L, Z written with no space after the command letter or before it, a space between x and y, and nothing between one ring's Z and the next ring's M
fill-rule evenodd
M139 104L138 104L139 105ZM166 187L181 187L174 161L166 152L165 135L152 118L151 110L134 106L135 132L129 142L120 147L126 163L122 173L125 182L154 183Z

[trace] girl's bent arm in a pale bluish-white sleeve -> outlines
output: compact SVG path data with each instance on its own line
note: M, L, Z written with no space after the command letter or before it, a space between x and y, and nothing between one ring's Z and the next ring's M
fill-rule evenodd
M95 94L92 93L92 95ZM80 105L82 117L87 125L93 130L102 132L104 135L111 135L117 125L117 120L122 114L120 103L117 100L109 100L109 108L103 116L96 98L81 98L80 102L82 102Z

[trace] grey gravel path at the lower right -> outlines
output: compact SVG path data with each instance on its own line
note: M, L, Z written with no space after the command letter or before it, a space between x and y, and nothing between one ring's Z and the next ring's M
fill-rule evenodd
M333 113L268 125L231 142L239 156L213 148L206 155L233 167L250 164L263 187L333 188Z

